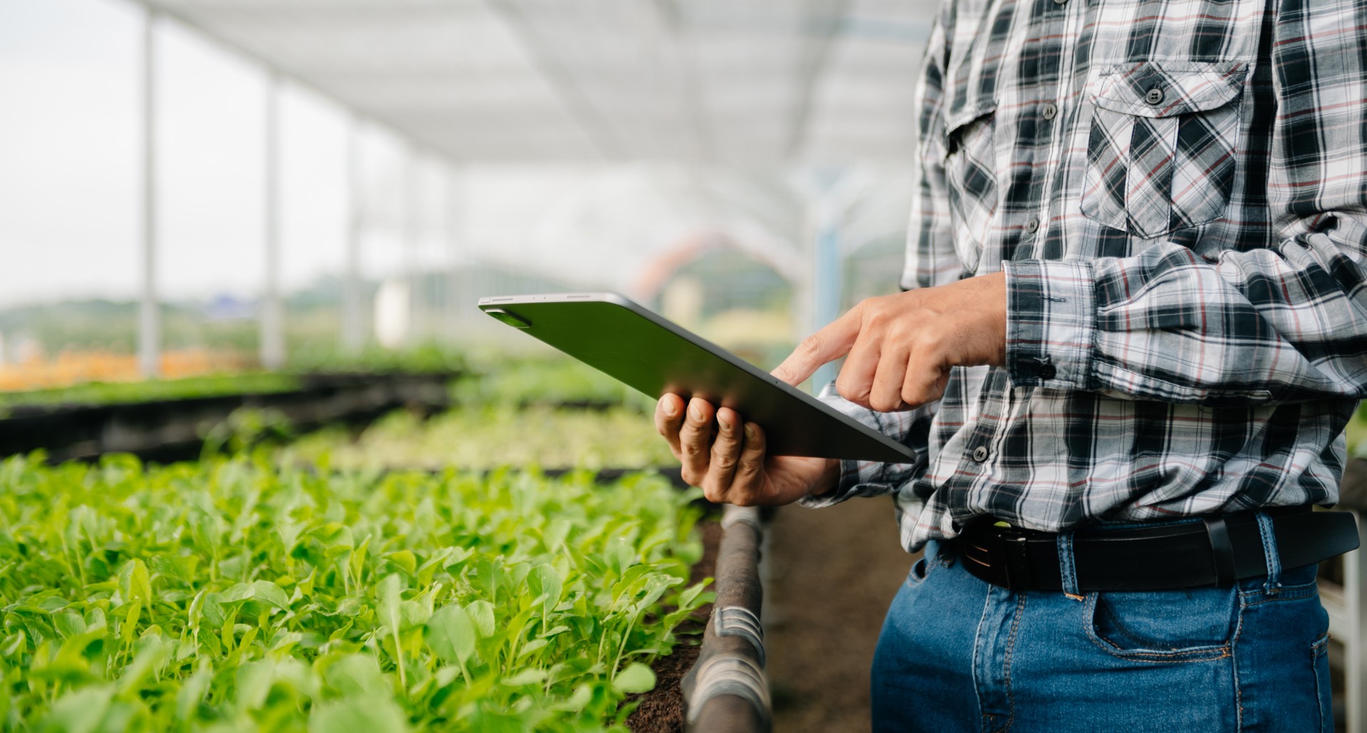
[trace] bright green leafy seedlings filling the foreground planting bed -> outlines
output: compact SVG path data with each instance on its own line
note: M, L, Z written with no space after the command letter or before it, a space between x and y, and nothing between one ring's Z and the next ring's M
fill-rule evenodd
M708 602L689 492L0 462L0 728L600 730Z

